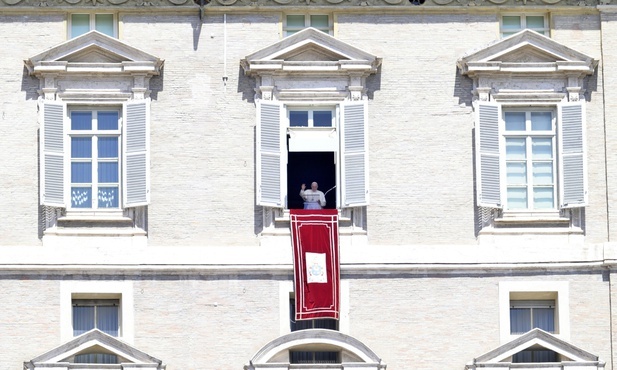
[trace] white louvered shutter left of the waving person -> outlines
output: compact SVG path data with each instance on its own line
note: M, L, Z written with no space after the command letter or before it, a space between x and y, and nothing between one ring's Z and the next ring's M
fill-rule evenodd
M281 119L281 104L257 102L257 205L284 207L282 180L286 166L285 128Z

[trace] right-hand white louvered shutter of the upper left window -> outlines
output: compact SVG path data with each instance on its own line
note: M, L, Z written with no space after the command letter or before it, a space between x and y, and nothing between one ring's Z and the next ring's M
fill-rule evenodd
M150 203L150 100L124 103L122 125L123 206Z

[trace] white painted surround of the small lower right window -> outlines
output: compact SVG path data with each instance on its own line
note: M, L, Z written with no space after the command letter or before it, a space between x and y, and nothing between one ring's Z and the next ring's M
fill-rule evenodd
M555 337L570 340L570 295L567 281L501 281L499 282L499 332L501 343L508 343L523 334L510 332L512 301L555 300Z

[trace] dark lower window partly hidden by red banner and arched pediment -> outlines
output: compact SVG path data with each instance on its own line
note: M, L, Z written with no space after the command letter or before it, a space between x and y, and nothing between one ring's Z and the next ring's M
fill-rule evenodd
M296 301L289 300L289 321L292 332L305 329L338 330L338 320L314 319L295 320ZM292 364L336 364L340 363L339 353L332 351L289 351L289 362Z

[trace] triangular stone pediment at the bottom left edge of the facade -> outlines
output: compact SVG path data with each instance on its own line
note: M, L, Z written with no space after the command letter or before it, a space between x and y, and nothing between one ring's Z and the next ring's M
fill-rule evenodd
M114 367L114 364L105 364L106 369L120 369L126 367L127 364L131 364L133 367L152 370L165 369L165 365L161 360L98 329L90 330L59 347L33 358L25 363L24 368L36 370L56 367L66 369L68 367L70 369L75 366L75 357L85 354L115 356L117 358L116 366ZM75 367L79 366L83 367L83 363L79 363ZM92 368L92 365L90 365L90 368Z

